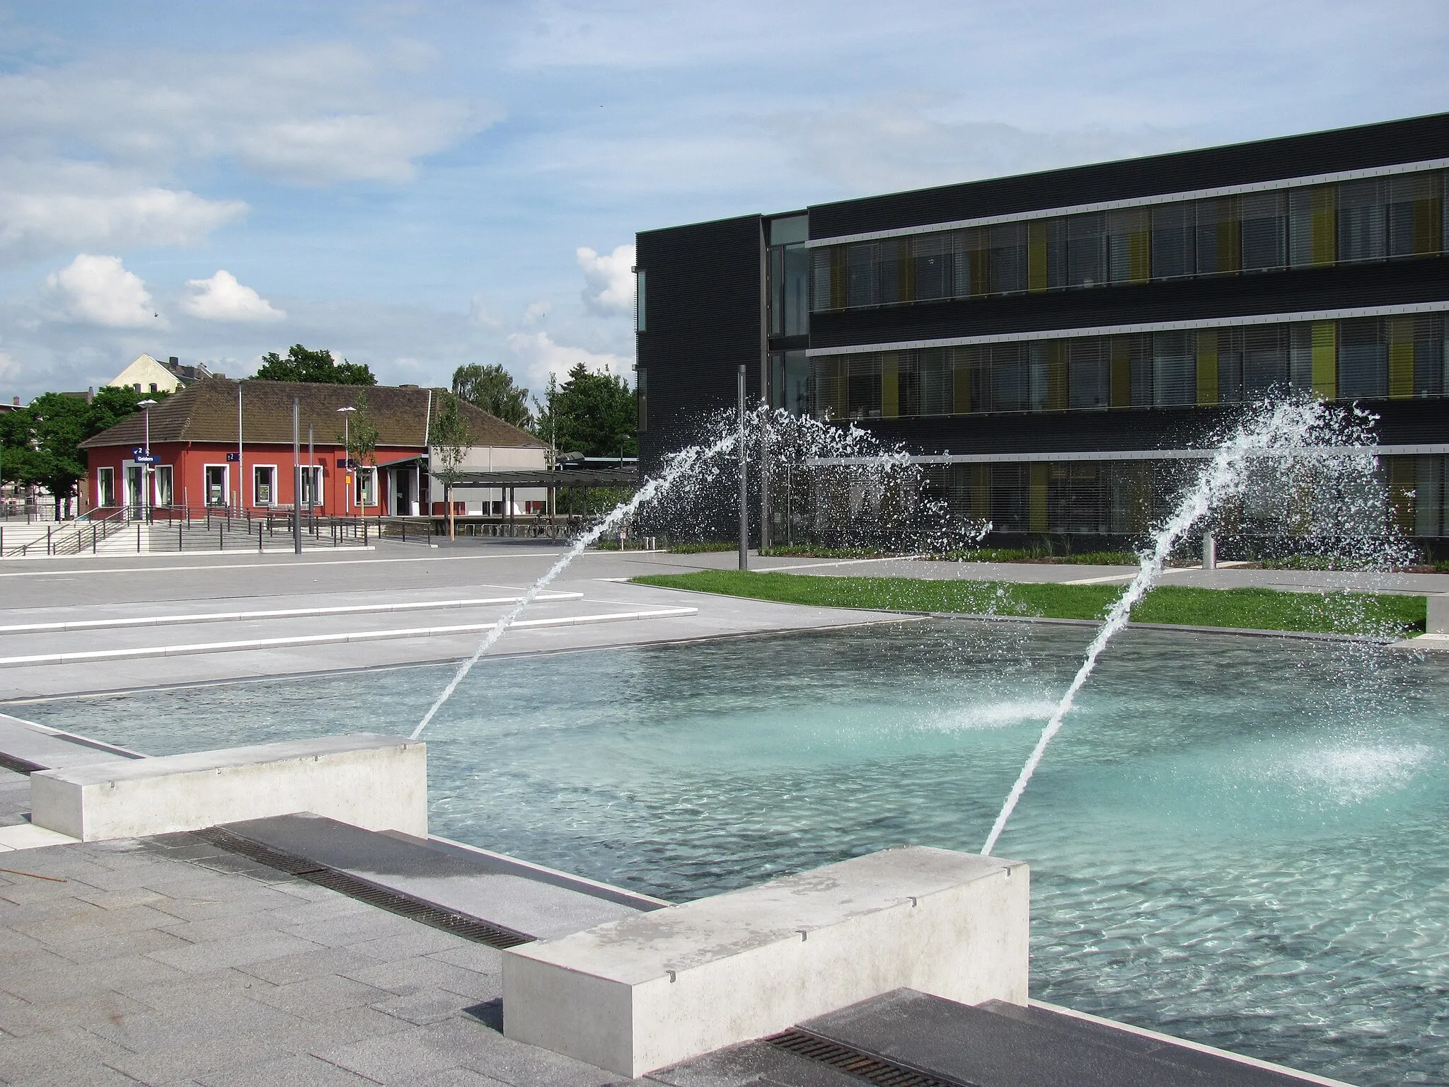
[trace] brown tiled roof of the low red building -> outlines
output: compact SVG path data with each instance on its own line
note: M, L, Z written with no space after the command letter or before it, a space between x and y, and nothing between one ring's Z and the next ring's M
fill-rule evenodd
M301 381L229 381L206 378L177 390L151 409L151 442L235 442L236 387L242 387L242 438L251 442L291 442L291 399L298 399L301 441L307 441L309 423L316 428L319 442L338 441L342 433L339 407L356 404L358 394L367 393L368 413L377 426L378 445L401 445L423 449L427 433L427 406L432 417L442 410L443 390L397 388L393 386L314 386ZM459 413L472 435L474 445L504 448L529 446L540 449L540 442L526 430L511 426L469 403L458 403ZM107 430L81 442L84 448L107 445L139 445L145 439L142 413L122 419Z

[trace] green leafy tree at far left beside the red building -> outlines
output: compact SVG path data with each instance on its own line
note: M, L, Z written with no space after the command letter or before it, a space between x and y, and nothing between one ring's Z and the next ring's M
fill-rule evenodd
M45 487L55 500L55 516L61 506L75 497L75 484L87 472L85 451L80 443L138 410L148 397L165 399L165 393L136 393L132 388L106 386L94 400L64 393L45 393L19 412L0 417L0 475L26 486Z

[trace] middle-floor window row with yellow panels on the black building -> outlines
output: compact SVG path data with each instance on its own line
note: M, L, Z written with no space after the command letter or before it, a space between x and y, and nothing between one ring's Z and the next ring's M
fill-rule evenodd
M826 355L809 372L801 362L772 358L771 403L832 419L1449 393L1439 313Z

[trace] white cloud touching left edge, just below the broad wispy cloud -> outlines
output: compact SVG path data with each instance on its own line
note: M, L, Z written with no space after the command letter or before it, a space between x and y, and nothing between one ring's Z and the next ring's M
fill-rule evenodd
M194 245L246 215L241 200L206 200L94 162L0 161L0 259L65 249Z

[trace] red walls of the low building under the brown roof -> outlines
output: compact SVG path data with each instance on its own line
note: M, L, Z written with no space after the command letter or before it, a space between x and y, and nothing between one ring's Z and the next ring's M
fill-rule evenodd
M345 454L339 445L332 442L317 442L313 451L314 458L309 461L307 448L303 446L301 464L304 468L309 464L316 464L322 468L322 503L317 504L317 513L341 516L346 512L346 484L343 481L352 475L351 471L339 467ZM354 515L391 513L387 464L416 457L420 452L422 449L406 446L378 446L375 455L378 478L374 501L365 510L359 510L356 501L354 501L351 512ZM226 459L227 454L232 457L236 455L235 445L217 442L152 442L151 454L158 458L156 467L171 465L172 504L177 507L190 506L193 510L204 509L207 465L226 465L226 504L229 506L239 499L242 509L264 509L256 506L252 496L252 468L256 465L272 465L275 468L272 472L272 506L291 506L296 500L293 491L296 475L293 474L291 445L243 445L241 472L238 472L235 461ZM84 481L87 488L84 499L87 504L100 504L97 493L100 480L99 468L113 470L116 504L119 506L126 501L123 462L130 458L130 446L114 445L87 451L90 465L90 475ZM238 490L241 490L239 496L236 494ZM416 494L412 497L417 499Z

